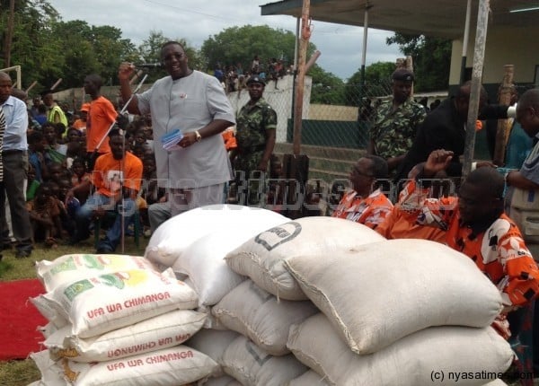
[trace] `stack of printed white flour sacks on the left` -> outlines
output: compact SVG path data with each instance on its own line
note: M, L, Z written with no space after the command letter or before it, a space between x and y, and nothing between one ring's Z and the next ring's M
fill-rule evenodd
M216 372L208 355L182 345L204 324L197 294L172 269L143 257L66 255L37 263L46 294L45 350L32 354L36 385L178 385Z

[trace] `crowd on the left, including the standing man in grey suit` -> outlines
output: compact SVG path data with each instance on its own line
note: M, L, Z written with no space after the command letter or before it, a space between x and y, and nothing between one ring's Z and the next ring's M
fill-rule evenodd
M190 69L183 47L174 41L163 45L162 60L170 76L137 95L129 85L134 66L120 65L119 106L102 96L99 75L87 75L89 101L76 111L60 105L52 92L28 103L9 75L0 74L6 113L0 127L5 129L2 161L10 180L0 180L0 198L9 202L8 213L0 212L4 248L14 244L16 257L26 258L35 243L76 245L92 234L95 221L108 217L109 230L96 251L112 252L121 232L133 232L132 215L140 216L149 235L172 215L227 199L238 202L228 195L229 184L242 197L249 189L258 192L236 183L234 172L249 176L280 165L272 153L277 114L262 93L266 80L284 75L282 62L271 59L265 75L264 66L253 61L243 81L250 101L236 126L222 79ZM229 70L226 78L243 75L241 66ZM123 110L121 101L130 101ZM165 148L163 136L176 128L181 128L179 140L173 149ZM256 197L251 204L261 205Z

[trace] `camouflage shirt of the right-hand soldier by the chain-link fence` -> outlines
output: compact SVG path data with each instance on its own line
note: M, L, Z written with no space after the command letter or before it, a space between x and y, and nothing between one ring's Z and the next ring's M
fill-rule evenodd
M393 100L382 103L376 110L369 130L375 144L375 154L385 160L406 154L426 116L425 108L411 99L394 111Z

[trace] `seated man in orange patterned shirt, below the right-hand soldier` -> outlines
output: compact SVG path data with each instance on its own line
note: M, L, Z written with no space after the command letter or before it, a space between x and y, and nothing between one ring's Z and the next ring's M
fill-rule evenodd
M393 209L391 201L380 189L373 191L376 179L387 178L384 158L366 155L359 158L350 171L352 190L346 192L331 217L345 218L375 229Z

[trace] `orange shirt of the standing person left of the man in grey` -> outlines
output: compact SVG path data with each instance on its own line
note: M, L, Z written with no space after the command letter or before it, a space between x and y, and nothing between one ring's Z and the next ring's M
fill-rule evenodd
M106 136L110 125L116 121L118 113L110 101L100 96L90 103L90 111L86 120L86 152L92 153ZM98 153L110 152L109 138L105 137Z

